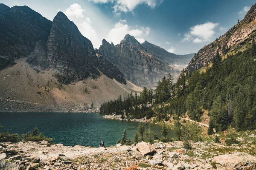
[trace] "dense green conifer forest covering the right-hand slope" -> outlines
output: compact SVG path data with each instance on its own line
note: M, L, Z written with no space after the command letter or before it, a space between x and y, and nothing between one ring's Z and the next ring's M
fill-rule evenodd
M204 110L209 111L208 133L213 128L226 130L256 129L256 45L244 52L229 53L221 59L217 51L212 67L206 71L182 71L177 82L172 75L163 77L155 90L144 88L140 96L128 94L104 103L102 114L121 114L128 119L152 116L169 119L170 115L188 113L200 121Z

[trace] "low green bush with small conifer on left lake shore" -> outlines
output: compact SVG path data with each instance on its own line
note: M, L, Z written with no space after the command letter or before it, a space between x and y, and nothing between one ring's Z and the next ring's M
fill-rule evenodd
M38 127L35 126L34 130L31 133L26 133L26 135L24 135L24 140L33 141L33 142L39 142L39 141L52 142L53 139L45 137L43 133L39 134Z

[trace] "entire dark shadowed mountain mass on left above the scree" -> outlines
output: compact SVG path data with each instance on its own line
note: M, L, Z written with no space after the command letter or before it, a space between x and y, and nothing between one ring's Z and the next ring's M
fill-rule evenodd
M54 70L64 84L98 77L99 71L126 84L118 68L96 57L90 40L62 12L51 22L27 6L0 4L0 70L21 57L34 69Z

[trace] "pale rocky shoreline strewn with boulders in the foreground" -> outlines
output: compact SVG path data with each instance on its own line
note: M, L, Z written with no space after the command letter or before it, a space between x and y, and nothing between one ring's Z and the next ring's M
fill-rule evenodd
M41 142L0 144L1 170L253 170L256 156L245 153L255 146L226 146L224 143L183 142L131 146L74 147ZM221 151L224 149L225 151ZM218 150L218 151L217 151Z

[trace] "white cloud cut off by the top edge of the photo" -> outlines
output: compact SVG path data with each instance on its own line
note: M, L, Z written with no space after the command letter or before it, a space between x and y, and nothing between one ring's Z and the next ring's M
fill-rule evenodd
M117 15L121 12L133 11L140 4L147 4L151 8L163 2L163 0L89 0L94 3L114 3L113 12Z

